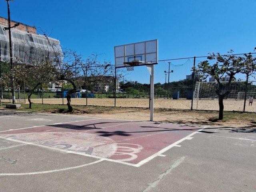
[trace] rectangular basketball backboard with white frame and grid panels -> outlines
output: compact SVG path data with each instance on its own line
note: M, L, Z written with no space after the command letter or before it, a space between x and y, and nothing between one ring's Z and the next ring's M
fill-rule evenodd
M158 62L158 40L114 47L116 68L153 65Z

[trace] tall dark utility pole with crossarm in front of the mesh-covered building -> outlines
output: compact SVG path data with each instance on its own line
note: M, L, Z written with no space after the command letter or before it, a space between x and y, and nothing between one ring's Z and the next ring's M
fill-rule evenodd
M14 26L11 27L9 1L12 1L12 0L5 0L5 1L7 1L7 7L8 7L8 27L4 27L3 30L7 30L7 29L9 30L10 63L11 63L11 71L12 71L12 104L15 104L15 82L14 82L13 58L12 58L11 28L19 26L20 23L14 24Z

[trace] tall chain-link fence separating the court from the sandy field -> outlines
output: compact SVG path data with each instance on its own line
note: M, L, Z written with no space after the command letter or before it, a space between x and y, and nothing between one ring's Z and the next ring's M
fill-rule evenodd
M201 74L194 71L204 60L208 60L206 56L158 61L154 65L154 108L218 110L218 83L210 76L202 81ZM212 64L216 60L208 61ZM234 76L231 91L224 98L225 111L256 112L256 105L249 106L249 97L256 98L255 77L243 73ZM86 83L72 94L73 105L150 107L150 73L146 66L134 67L132 71L118 68L113 76L91 82L88 79L95 77L79 78L84 78ZM223 91L228 88L228 80L228 75L222 77ZM57 89L42 86L42 90L32 94L32 102L66 104L67 90L62 88L63 84Z

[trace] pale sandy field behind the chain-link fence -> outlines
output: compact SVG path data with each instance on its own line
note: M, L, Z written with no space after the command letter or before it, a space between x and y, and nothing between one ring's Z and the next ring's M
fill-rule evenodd
M5 102L4 100L2 102ZM6 101L6 102L9 102ZM28 101L26 101L28 102ZM32 99L33 103L43 104L66 104L66 98L60 99ZM100 98L88 98L87 105L89 106L114 106L114 99L100 99ZM72 105L86 105L86 98L72 98ZM117 98L116 107L138 107L138 108L149 108L149 99L143 98ZM162 109L191 109L191 100L179 99L155 99L154 108ZM193 109L196 110L219 110L218 100L194 100ZM243 100L224 100L224 110L226 111L243 111L244 101ZM248 106L246 102L246 112L256 112L256 104Z

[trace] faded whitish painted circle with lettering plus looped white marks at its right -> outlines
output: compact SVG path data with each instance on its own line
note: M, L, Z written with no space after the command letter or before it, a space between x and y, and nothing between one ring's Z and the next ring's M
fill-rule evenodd
M38 132L22 134L2 134L14 142L27 142L52 149L60 149L80 154L111 158L123 162L135 160L143 147L138 144L116 143L111 138L82 132Z

